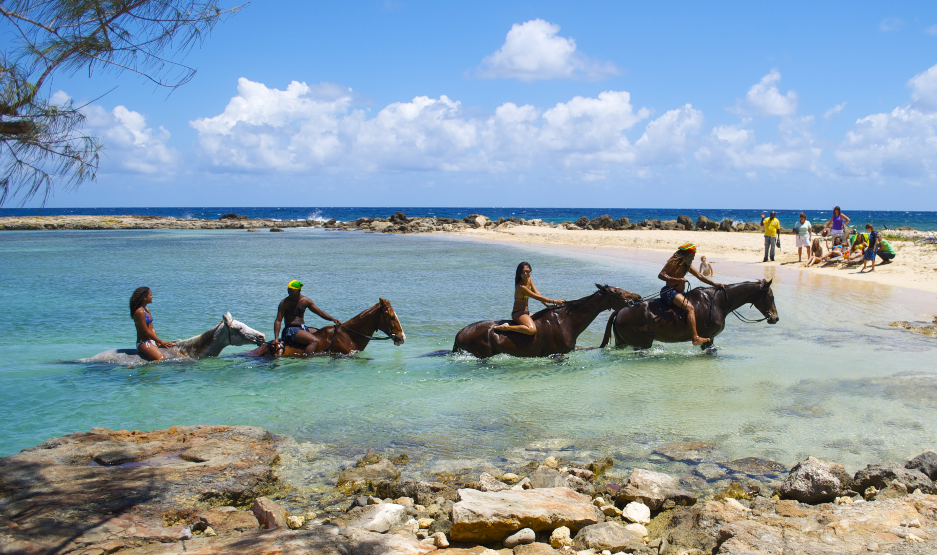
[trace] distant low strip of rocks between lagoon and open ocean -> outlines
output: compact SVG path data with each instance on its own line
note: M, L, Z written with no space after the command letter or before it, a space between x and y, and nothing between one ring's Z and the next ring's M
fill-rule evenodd
M4 231L52 231L52 230L231 230L243 229L258 231L268 229L272 232L284 228L323 227L342 231L360 230L379 233L431 233L462 232L467 230L508 230L517 226L562 228L570 231L631 231L631 230L671 230L671 231L707 231L707 232L748 232L760 233L760 226L755 222L733 223L732 219L721 221L700 216L695 221L689 216L677 219L644 219L632 222L629 218L612 219L607 214L600 218L585 216L575 221L562 223L544 222L533 218L498 218L490 219L481 214L470 214L465 218L409 218L397 212L388 218L358 218L354 221L328 221L296 219L249 219L237 214L226 214L218 219L163 218L155 216L46 216L24 218L0 218L0 230ZM814 233L819 233L823 224L814 224ZM781 233L792 233L781 230ZM918 232L910 227L887 230L894 236L912 238L933 236L934 232Z

